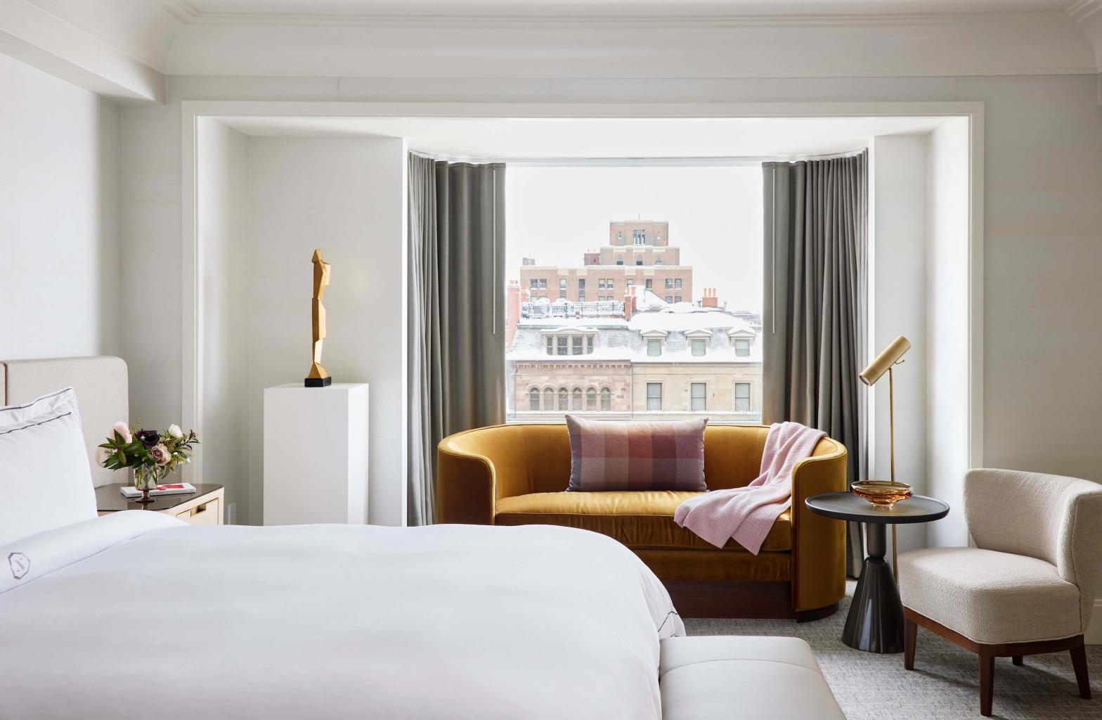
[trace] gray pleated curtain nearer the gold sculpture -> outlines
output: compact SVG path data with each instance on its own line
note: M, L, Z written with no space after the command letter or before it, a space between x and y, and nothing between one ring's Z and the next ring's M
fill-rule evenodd
M410 525L435 518L441 439L505 421L504 292L505 165L410 153Z

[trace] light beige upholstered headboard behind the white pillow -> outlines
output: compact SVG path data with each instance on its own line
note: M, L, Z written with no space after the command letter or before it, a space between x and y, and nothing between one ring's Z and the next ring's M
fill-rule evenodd
M76 390L80 427L88 447L96 487L120 482L114 471L96 465L93 454L111 426L130 421L127 364L121 357L58 357L0 363L0 405L20 405L63 387Z

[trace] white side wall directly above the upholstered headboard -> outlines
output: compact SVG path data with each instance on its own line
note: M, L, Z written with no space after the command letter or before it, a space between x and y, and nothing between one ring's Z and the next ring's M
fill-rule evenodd
M114 103L0 54L0 358L121 354L120 139Z

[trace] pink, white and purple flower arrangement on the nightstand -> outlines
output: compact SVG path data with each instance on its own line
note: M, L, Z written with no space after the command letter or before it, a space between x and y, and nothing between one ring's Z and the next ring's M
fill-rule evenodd
M180 465L192 461L199 439L194 430L186 434L179 425L164 432L133 429L125 421L115 423L107 441L96 448L96 463L108 470L131 469L134 487L142 498L155 490L161 480Z

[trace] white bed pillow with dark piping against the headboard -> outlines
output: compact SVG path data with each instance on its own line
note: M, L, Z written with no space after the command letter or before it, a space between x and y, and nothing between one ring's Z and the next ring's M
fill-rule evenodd
M96 517L76 393L0 408L0 546Z

